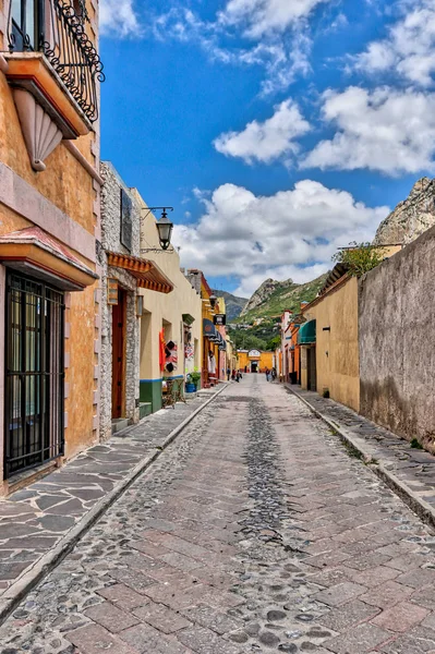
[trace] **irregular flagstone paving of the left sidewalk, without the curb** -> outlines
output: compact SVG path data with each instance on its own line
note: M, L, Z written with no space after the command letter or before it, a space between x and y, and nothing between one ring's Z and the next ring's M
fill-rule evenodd
M100 499L136 464L161 449L170 432L207 399L204 393L188 404L177 404L176 411L159 411L0 501L0 607L22 573L68 537Z

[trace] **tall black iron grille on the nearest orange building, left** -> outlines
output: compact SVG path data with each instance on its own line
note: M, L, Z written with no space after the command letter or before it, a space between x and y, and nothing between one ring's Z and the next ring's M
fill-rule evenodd
M7 281L5 479L63 455L63 293L16 274Z

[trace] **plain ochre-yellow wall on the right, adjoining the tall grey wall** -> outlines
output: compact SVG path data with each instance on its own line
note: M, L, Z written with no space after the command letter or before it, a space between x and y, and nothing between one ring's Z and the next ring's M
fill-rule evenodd
M328 389L334 400L359 411L357 278L351 277L307 306L304 316L316 320L317 392L322 395ZM324 327L330 330L324 331Z

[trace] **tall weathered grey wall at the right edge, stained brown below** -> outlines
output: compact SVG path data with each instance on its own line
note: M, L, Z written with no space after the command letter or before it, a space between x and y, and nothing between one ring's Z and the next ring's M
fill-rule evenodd
M435 452L435 229L359 282L360 412Z

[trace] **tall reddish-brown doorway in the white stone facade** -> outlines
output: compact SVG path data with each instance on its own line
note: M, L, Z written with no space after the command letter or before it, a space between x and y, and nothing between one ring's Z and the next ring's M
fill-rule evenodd
M126 292L118 289L112 306L112 419L125 415L125 314Z

